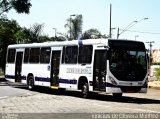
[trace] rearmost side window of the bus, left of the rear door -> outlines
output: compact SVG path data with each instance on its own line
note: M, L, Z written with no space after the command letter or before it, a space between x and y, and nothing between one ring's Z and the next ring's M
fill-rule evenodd
M7 62L14 63L15 61L16 49L8 49Z

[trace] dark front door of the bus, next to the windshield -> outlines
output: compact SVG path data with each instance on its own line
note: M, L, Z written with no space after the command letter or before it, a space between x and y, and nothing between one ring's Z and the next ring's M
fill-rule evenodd
M94 56L93 90L105 91L106 82L106 50L96 50Z

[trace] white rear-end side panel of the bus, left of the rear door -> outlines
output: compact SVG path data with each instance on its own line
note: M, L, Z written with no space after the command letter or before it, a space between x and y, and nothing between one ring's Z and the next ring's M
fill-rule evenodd
M6 64L5 78L8 81L15 82L15 64Z

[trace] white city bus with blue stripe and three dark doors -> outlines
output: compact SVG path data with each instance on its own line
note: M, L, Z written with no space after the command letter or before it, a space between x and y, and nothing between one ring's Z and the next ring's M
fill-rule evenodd
M88 39L9 45L5 78L53 89L91 92L146 93L148 62L145 45L123 39Z

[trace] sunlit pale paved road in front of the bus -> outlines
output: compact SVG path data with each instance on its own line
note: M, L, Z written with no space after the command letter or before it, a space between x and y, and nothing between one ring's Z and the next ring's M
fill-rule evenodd
M24 86L0 83L0 113L160 113L160 90L147 94L124 94L122 99L111 95L80 98L80 93L58 94L48 88L29 91Z

